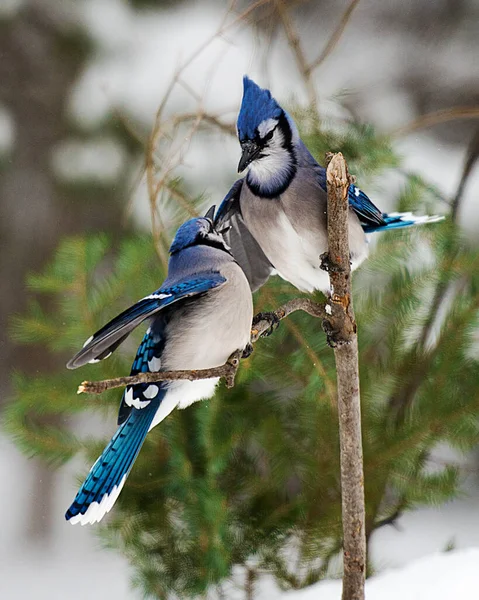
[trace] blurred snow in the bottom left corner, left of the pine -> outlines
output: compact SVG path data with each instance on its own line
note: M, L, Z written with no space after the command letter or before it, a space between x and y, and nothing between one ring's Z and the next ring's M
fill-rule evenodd
M140 594L130 587L132 572L127 561L103 549L94 528L74 527L63 517L76 493L76 476L86 469L82 461L71 461L54 474L52 525L45 538L35 539L28 531L33 511L39 521L48 520L41 501L33 499L36 465L2 435L0 456L0 598L139 599Z

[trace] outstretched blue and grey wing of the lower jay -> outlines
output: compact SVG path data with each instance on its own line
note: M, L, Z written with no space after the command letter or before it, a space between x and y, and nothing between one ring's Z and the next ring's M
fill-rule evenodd
M98 362L107 358L130 332L148 317L175 302L203 294L225 282L225 277L210 271L179 279L174 284L161 287L123 311L92 335L83 348L67 363L67 368L76 369L88 362Z

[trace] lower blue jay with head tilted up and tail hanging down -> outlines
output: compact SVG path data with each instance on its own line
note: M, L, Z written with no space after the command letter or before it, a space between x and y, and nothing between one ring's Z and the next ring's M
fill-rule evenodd
M249 349L250 287L213 227L214 210L178 229L163 285L90 337L68 362L69 369L107 358L145 319L150 326L136 353L132 375L217 367L236 350ZM100 521L118 498L148 431L174 408L213 396L217 382L213 378L128 386L118 430L67 510L67 521L82 525Z

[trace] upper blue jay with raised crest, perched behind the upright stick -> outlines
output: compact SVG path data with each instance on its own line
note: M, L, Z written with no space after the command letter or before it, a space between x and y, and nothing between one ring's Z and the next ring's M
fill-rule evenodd
M326 170L271 93L246 76L243 83L238 172L248 172L226 195L215 226L230 227L226 240L253 291L276 272L300 290L328 293L320 259L328 250ZM367 257L367 233L442 219L383 213L355 185L349 188L349 204L352 269Z

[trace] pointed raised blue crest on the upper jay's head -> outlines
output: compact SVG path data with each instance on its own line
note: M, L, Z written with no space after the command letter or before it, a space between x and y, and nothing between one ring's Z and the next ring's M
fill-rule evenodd
M238 115L240 141L252 140L256 128L266 119L278 119L283 109L269 90L263 90L247 75L243 77L243 101Z

